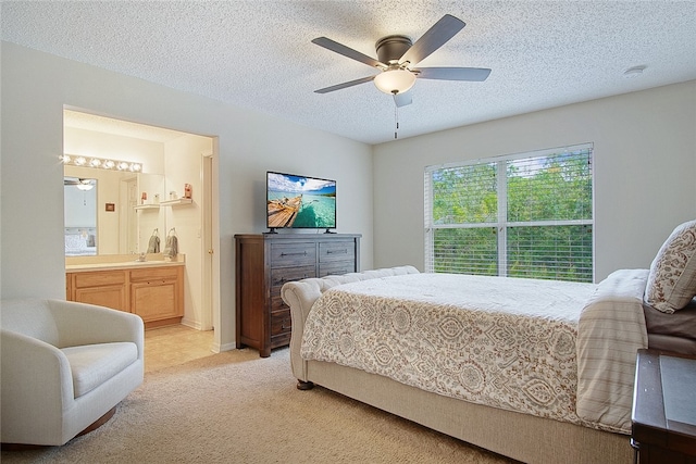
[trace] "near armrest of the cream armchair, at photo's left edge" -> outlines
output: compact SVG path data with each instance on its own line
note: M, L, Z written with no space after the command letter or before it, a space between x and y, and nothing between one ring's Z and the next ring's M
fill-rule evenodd
M5 329L0 333L3 428L37 416L48 427L60 423L63 410L74 401L67 358L36 338Z

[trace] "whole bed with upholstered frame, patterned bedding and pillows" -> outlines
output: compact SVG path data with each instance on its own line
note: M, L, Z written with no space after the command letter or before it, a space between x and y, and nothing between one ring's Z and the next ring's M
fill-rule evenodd
M680 227L649 269L599 284L412 266L285 284L298 388L522 462L632 462L636 351L696 349L696 221Z

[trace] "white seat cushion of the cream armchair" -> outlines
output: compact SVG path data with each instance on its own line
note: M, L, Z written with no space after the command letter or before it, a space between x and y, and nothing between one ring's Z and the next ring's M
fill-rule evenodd
M129 341L67 347L61 351L70 362L75 398L99 387L138 359L138 348Z

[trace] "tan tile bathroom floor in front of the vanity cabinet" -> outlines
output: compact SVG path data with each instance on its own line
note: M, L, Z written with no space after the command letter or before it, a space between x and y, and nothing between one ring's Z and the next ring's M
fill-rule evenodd
M183 364L214 354L213 330L196 330L184 325L145 331L145 372Z

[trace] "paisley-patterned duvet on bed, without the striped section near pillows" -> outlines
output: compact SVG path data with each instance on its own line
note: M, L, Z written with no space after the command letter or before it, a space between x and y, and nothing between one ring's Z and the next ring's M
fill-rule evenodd
M577 327L597 289L449 274L345 284L312 306L301 355L474 403L625 431L626 424L602 427L576 414Z

